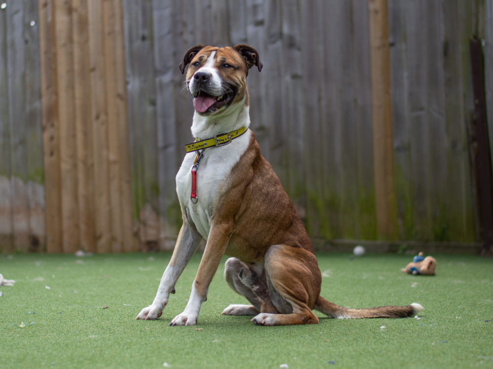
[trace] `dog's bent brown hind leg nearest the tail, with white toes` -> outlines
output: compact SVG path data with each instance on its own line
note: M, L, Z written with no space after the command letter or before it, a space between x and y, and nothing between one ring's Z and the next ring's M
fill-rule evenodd
M257 325L317 324L312 308L320 293L317 258L297 247L274 245L265 255L265 272L273 305L279 313L261 310Z

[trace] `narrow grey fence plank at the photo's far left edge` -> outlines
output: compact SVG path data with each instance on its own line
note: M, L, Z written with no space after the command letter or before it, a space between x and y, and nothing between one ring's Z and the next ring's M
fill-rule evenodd
M0 9L0 252L14 251L12 224L12 176L9 93L7 9Z

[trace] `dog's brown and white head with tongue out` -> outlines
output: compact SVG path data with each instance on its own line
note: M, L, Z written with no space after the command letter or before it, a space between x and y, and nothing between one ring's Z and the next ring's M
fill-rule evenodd
M262 69L257 51L249 45L214 47L197 45L187 50L179 64L186 73L188 91L195 111L203 116L217 114L229 106L248 105L246 76L248 69Z

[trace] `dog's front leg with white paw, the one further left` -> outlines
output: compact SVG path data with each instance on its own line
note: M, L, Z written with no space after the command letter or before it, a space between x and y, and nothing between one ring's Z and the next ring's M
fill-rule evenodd
M175 283L178 277L185 269L201 241L202 236L195 227L184 221L176 240L173 256L159 283L156 297L152 305L144 307L136 319L157 319L162 315L164 307L168 304L170 293L175 293Z

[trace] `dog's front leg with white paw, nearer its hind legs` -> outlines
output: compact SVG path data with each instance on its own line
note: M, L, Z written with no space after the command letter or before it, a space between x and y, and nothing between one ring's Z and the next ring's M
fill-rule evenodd
M233 225L229 223L212 224L206 249L200 261L197 276L192 284L192 293L188 303L181 314L176 315L171 321L174 325L196 325L199 317L200 306L207 300L207 291L212 277L221 262L222 255L226 250L229 238L233 233Z

